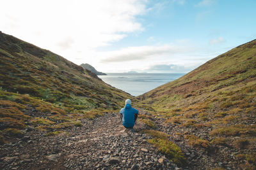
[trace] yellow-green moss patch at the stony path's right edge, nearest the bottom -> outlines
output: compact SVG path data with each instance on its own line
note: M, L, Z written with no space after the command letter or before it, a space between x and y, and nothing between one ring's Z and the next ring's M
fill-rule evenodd
M180 147L175 145L175 143L159 138L148 139L148 142L156 146L160 152L164 153L164 155L175 162L175 164L179 164L179 166L184 166L186 164L184 153L182 153Z

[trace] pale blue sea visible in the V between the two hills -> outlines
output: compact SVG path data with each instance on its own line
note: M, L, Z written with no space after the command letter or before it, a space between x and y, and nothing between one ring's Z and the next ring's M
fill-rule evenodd
M124 90L132 96L140 96L160 85L180 78L185 73L106 73L99 76L105 83Z

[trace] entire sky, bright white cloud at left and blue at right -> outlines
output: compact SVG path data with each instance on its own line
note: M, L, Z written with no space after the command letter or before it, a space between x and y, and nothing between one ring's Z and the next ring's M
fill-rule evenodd
M188 73L256 38L255 0L0 2L0 31L105 73Z

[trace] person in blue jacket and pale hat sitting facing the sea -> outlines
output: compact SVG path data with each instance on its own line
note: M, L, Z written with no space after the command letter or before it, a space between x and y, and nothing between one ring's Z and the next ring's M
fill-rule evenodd
M136 122L136 119L139 113L138 110L132 108L131 103L132 102L130 99L126 99L125 107L120 110L120 117L122 119L122 124L127 129L133 129L133 126Z

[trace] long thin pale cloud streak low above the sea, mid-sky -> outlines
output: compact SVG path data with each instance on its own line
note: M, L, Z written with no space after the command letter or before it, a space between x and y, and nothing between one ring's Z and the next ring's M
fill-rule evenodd
M186 52L189 49L180 46L131 46L118 51L104 53L105 58L101 62L125 62L132 60L150 59L161 55Z

